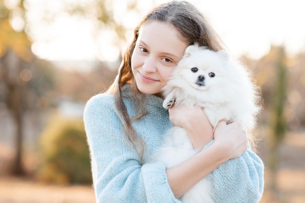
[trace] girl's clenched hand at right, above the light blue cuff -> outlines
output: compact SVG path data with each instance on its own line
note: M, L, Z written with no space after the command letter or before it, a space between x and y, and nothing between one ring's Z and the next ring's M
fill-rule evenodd
M214 131L214 144L228 159L241 156L248 148L247 132L242 123L233 121L227 125L227 121L219 121Z

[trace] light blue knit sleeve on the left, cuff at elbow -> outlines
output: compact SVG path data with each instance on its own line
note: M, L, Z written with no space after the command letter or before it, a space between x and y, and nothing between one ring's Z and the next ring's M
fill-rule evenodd
M97 203L181 203L174 198L162 163L140 165L124 140L112 97L96 95L84 109Z

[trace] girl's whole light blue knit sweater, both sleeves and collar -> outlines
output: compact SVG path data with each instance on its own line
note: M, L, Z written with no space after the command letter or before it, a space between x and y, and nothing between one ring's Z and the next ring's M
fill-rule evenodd
M146 142L147 158L161 145L162 135L172 124L161 98L147 94L146 101L148 114L133 126ZM131 100L124 98L124 102L133 116ZM97 203L181 203L171 191L163 163L140 165L140 156L122 134L113 95L93 96L84 109L84 124ZM261 199L264 165L250 150L211 174L216 203L257 203Z

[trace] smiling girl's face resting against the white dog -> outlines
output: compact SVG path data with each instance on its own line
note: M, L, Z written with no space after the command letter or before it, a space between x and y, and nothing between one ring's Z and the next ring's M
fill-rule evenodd
M151 21L139 30L132 55L132 71L138 89L161 95L188 43L172 24Z

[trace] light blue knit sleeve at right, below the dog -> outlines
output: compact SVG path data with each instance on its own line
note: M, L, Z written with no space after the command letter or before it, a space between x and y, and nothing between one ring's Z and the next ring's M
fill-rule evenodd
M248 148L212 171L213 198L216 203L258 203L264 190L264 164Z

